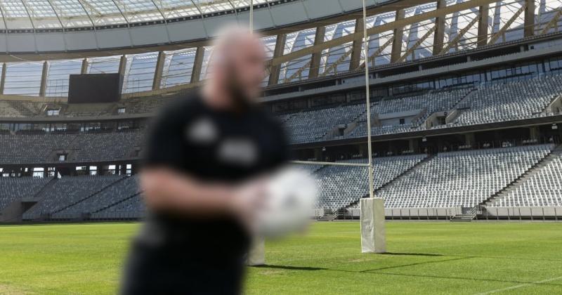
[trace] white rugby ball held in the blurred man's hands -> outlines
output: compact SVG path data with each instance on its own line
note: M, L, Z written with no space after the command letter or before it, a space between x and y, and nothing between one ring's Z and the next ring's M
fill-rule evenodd
M306 229L316 202L315 178L301 169L277 171L266 185L266 199L258 214L258 234L283 237Z

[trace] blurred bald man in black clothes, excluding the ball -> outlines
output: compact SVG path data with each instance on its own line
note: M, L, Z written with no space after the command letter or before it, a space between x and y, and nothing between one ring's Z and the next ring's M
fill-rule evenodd
M164 108L141 187L150 217L133 242L122 294L239 294L264 173L287 157L256 107L266 55L256 35L221 34L200 91Z

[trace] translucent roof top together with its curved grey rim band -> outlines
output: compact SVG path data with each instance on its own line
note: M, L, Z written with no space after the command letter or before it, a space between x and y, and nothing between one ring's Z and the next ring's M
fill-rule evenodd
M382 6L395 10L386 8L391 3L410 7L428 1L431 0L367 0L366 4L368 13L372 14L375 13L372 9ZM249 22L250 3L250 0L0 0L0 53L205 45L221 27ZM267 35L355 19L362 9L361 0L254 0L253 4L254 29Z

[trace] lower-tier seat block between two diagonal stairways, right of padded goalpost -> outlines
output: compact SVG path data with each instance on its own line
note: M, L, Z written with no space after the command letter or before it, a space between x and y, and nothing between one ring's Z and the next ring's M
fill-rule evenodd
M528 171L554 145L443 152L377 195L386 208L473 207Z

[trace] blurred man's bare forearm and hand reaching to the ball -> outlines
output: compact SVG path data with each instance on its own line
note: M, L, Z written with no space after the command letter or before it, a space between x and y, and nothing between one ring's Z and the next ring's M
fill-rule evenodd
M141 173L145 202L153 211L190 216L233 215L251 218L263 196L261 182L241 186L202 183L173 169L147 168Z

